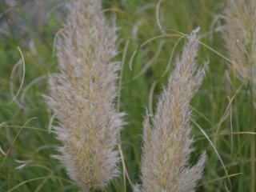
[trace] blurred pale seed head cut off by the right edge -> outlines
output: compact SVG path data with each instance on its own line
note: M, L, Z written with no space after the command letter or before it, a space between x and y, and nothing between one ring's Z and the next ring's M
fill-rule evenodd
M242 82L255 82L256 1L228 0L224 18L223 37L230 53L232 69Z

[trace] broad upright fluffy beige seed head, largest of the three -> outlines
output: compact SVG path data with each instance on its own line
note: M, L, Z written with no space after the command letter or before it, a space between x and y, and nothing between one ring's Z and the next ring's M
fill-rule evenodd
M100 0L75 0L60 31L56 51L60 73L50 76L48 105L58 118L62 147L57 158L84 191L103 188L118 174L115 109L118 62L116 27L106 22Z

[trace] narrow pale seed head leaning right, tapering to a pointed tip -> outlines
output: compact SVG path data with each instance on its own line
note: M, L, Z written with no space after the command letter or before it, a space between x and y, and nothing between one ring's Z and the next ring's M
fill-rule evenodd
M205 76L205 68L198 68L198 30L178 58L168 86L159 98L156 114L144 120L144 146L142 156L142 191L188 192L194 191L202 177L206 154L196 165L188 164L193 139L190 138L190 100ZM135 189L138 191L138 188Z

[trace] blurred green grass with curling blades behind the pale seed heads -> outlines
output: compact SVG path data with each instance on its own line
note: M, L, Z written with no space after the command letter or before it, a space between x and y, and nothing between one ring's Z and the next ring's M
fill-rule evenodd
M57 121L43 98L48 94L47 75L58 71L54 37L65 21L66 2L0 0L0 191L79 190L51 158L59 143L50 125ZM140 182L143 114L146 109L154 111L185 42L175 31L189 34L200 26L202 42L214 51L201 46L198 63L209 60L210 66L191 102L196 122L191 164L202 150L208 155L198 191L254 192L255 109L250 85L237 80L225 58L218 16L225 1L104 0L103 6L107 15L116 15L120 27L119 104L128 122L122 130L122 151L130 181ZM106 191L131 191L131 187L120 174Z

